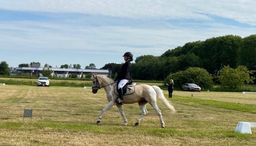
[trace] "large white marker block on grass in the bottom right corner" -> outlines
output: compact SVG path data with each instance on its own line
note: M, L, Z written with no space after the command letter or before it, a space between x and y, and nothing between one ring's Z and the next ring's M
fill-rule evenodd
M236 132L252 134L251 127L256 127L255 122L241 122L239 121L236 125Z

